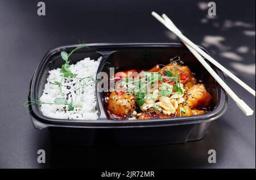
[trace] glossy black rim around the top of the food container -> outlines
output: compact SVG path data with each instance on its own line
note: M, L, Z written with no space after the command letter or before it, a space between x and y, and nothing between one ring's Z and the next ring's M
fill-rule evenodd
M39 62L34 70L31 83L30 83L30 93L28 95L28 100L30 97L35 98L35 87L36 83L38 83L38 78L40 72L43 71L43 67L47 64L49 57L52 55L56 55L60 51L63 51L67 48L76 47L78 44L73 45L64 45L60 47L53 48L49 50L46 55L44 55L43 59ZM100 52L102 49L107 48L152 48L152 47L179 47L184 48L184 44L181 43L93 43L86 44L90 49L88 52ZM205 48L199 46L205 52ZM187 49L188 50L188 49ZM188 50L189 51L189 50ZM208 52L207 52L208 53ZM209 54L209 53L208 53ZM214 68L216 70L218 76L225 80L224 74ZM217 83L217 82L216 82ZM217 97L218 97L218 106L214 107L213 111L208 112L204 115L197 116L187 116L187 117L176 117L176 118L167 118L167 119L151 119L151 120L108 120L108 119L97 119L97 120L67 120L67 119L55 119L48 118L44 116L42 112L39 112L38 108L36 108L35 104L31 104L28 106L28 110L30 111L31 119L36 128L42 129L46 127L76 127L76 128L131 128L131 127L160 127L160 126L170 126L170 125L183 125L183 124L196 124L203 122L210 122L219 118L227 108L227 95L225 91L217 84ZM98 99L97 99L98 101ZM104 112L101 112L104 113Z

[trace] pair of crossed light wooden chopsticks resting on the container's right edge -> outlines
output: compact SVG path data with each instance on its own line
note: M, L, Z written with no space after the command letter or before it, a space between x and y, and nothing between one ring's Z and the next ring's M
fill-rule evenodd
M226 75L236 81L239 85L241 85L244 89L249 91L255 97L255 90L251 89L250 86L246 85L241 79L234 76L228 69L219 64L216 60L210 57L207 53L205 53L202 49L200 49L196 44L194 44L191 40L185 37L180 30L175 26L175 24L168 18L167 15L163 14L162 16L156 14L156 12L152 12L152 15L159 20L164 26L166 26L170 31L174 32L178 37L180 37L181 41L187 46L189 51L199 60L199 62L204 66L205 69L212 75L214 79L220 84L220 86L229 94L229 96L236 102L237 106L245 113L246 116L253 115L254 111L242 100L240 99L232 89L218 76L218 74L210 67L210 65L204 60L205 57L208 61L210 61L213 65L215 65L218 69L222 70ZM203 56L203 57L202 57Z

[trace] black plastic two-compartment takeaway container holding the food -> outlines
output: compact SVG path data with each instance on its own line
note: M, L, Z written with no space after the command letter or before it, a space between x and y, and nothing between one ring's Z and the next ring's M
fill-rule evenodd
M77 45L52 49L39 62L30 85L30 97L38 99L44 89L48 71L60 68L63 64L60 52L70 52ZM212 120L219 118L226 110L227 96L218 83L183 44L139 43L139 44L88 44L89 49L73 53L71 63L90 57L102 57L98 72L107 72L109 67L118 70L150 69L156 64L168 64L171 57L180 56L196 78L203 81L213 97L212 111L204 115L154 120L108 120L105 112L104 93L97 92L98 120L68 120L48 118L40 112L40 106L29 106L35 128L49 128L55 143L77 145L155 145L184 143L199 140ZM105 62L110 62L106 64ZM217 74L224 74L214 66Z

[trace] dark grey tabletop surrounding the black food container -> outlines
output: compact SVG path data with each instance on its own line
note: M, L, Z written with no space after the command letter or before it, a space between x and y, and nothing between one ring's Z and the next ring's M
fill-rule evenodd
M213 19L200 3L207 1L44 0L46 16L37 15L38 2L0 0L0 168L255 168L255 115L246 117L232 99L203 140L137 147L52 144L48 130L34 129L23 107L36 64L51 48L78 39L179 41L152 18L152 10L171 16L186 36L255 89L254 0L214 1ZM255 110L255 98L227 82ZM46 164L37 163L38 149L46 150ZM217 152L216 164L208 164L209 149Z

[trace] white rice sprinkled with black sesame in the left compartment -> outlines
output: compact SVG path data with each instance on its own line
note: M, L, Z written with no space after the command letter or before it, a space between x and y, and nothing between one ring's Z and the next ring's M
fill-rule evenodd
M92 76L95 79L100 59L101 58L99 58L98 61L94 61L90 60L89 57L85 58L84 60L77 62L77 64L71 65L70 70L73 74L77 74L76 77L84 78ZM44 91L42 97L40 97L40 101L54 103L55 98L63 98L61 96L59 86L50 83L55 81L60 82L60 75L60 68L49 71L47 83L44 86ZM69 111L68 106L65 105L42 104L41 111L43 115L57 119L98 119L98 112L96 110L96 83L86 86L85 89L80 88L80 91L75 93L74 91L77 89L76 85L79 85L78 81L79 80L76 78L65 78L62 83L64 98L67 98L69 103L71 102L72 97L73 102L75 102L76 106L73 111ZM84 93L82 93L82 90Z

